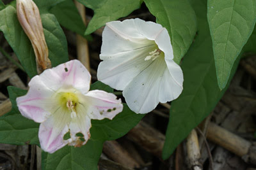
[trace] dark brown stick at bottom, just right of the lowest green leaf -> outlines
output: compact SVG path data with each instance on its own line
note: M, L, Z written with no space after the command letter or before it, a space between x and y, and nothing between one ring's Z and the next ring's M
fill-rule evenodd
M103 152L110 159L126 167L140 167L140 164L117 141L106 141L103 145Z

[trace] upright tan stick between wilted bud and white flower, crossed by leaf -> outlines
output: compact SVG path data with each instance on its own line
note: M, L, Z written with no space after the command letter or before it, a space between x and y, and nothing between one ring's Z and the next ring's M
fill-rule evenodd
M83 4L78 3L77 1L75 1L75 4L76 4L77 10L79 11L79 13L82 17L84 24L86 24L85 8L84 8ZM82 62L82 64L84 64L86 69L88 69L88 71L90 71L88 41L86 39L84 39L83 36L80 36L79 34L77 34L76 38L77 38L77 41L76 41L76 43L77 43L77 58L78 58L78 60L80 60Z

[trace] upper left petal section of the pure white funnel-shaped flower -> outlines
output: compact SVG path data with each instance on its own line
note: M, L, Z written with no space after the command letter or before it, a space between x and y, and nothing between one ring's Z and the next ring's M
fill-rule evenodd
M100 59L104 60L116 53L129 52L149 45L155 45L154 41L148 40L138 32L133 19L108 22L102 32Z

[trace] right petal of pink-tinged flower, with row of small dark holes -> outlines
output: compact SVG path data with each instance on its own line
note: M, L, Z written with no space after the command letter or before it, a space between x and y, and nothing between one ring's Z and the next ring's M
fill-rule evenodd
M88 117L102 120L104 118L113 119L123 110L121 99L116 99L114 94L102 90L92 90L85 95L85 100L90 103Z

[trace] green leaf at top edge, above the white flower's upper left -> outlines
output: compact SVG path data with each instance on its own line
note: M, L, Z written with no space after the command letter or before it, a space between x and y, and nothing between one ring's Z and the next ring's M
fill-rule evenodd
M91 34L113 20L126 17L132 11L140 8L140 0L78 0L84 6L94 11L92 20L84 34Z

